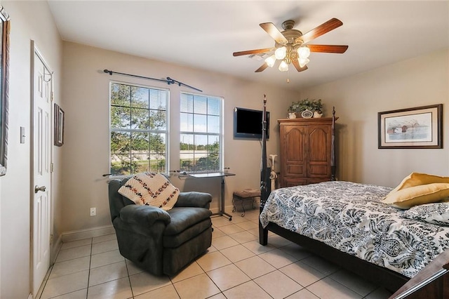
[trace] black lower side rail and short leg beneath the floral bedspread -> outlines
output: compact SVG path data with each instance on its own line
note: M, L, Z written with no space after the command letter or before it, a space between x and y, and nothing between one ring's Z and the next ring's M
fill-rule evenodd
M394 293L398 288L401 288L403 284L409 280L397 272L391 271L387 268L368 263L366 260L361 260L354 255L349 255L330 247L321 241L310 239L309 237L302 236L290 230L286 230L279 225L269 222L267 228L263 228L259 222L259 242L262 245L268 243L268 231L274 232L281 237L284 237L300 246L303 246L307 250L313 252L316 255L329 260L331 263L339 265L346 270L356 273L357 275L373 281L374 284L383 286L387 290Z

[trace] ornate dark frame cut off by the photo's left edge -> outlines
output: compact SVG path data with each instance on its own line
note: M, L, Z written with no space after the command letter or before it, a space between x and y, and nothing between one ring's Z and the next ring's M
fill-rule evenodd
M6 175L8 157L9 15L0 5L0 176Z

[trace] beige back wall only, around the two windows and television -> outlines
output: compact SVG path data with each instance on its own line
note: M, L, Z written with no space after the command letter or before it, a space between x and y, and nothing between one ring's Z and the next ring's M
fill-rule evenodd
M248 107L262 109L263 94L267 94L267 110L273 119L270 126L268 153L276 153L278 142L276 119L286 116L288 103L297 98L296 92L266 84L236 79L200 69L123 55L100 48L64 42L62 108L65 110L65 145L62 147L62 213L58 215L62 232L87 230L110 225L107 198L109 173L109 80L135 82L170 88L170 170L179 169L179 95L180 91L195 92L186 87L163 82L135 79L120 75L109 76L103 69L138 74L152 78L171 77L203 90L205 95L225 98L225 166L236 176L226 179L226 206L230 211L232 191L258 188L260 184L260 142L234 140L233 109ZM218 208L220 179L188 179L173 177L181 190L197 190L213 194L212 208ZM91 217L89 208L96 207Z

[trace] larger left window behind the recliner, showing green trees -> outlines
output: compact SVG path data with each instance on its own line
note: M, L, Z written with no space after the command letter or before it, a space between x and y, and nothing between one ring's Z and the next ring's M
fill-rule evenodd
M168 91L111 82L110 173L168 173Z

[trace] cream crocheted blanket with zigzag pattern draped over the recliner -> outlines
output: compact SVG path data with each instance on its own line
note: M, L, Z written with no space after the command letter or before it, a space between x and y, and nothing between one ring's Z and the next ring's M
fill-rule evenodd
M121 186L119 193L135 204L168 211L175 206L180 190L161 173L139 173Z

